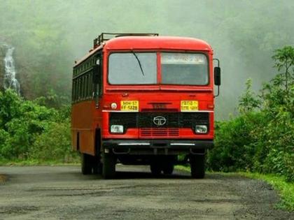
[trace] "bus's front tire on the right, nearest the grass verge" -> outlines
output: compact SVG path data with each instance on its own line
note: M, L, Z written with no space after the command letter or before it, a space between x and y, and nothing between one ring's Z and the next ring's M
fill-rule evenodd
M191 177L203 179L205 176L205 154L190 155Z

